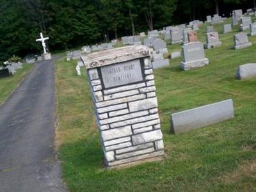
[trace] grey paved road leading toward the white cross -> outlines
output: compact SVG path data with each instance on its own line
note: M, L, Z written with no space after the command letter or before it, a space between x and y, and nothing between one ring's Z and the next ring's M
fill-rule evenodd
M41 61L0 107L0 191L66 191L54 152L54 60Z

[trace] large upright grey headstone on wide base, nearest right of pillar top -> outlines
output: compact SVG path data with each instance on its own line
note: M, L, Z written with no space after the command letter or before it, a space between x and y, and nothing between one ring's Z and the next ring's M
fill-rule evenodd
M191 42L182 46L183 61L180 63L182 70L191 70L209 65L205 58L204 45L201 42Z

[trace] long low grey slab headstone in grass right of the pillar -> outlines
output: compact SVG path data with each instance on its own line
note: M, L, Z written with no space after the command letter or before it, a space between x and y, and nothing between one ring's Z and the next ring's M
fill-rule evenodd
M232 99L172 114L171 132L181 133L234 118Z

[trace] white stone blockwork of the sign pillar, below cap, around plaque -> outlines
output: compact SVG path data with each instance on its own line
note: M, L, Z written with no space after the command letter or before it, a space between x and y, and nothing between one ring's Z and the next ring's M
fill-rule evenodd
M104 89L100 67L88 69L107 166L164 154L152 63L149 56L142 60L145 80L116 88Z

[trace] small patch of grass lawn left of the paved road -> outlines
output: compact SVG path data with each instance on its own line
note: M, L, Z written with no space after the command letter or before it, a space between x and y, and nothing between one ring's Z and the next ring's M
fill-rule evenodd
M3 104L4 100L6 100L13 90L17 87L20 81L23 79L26 74L33 68L33 65L24 64L23 68L17 70L14 76L4 77L0 79L0 106Z

